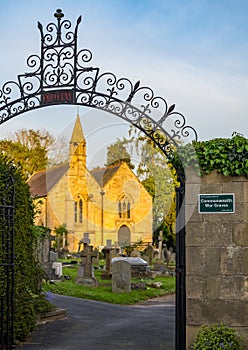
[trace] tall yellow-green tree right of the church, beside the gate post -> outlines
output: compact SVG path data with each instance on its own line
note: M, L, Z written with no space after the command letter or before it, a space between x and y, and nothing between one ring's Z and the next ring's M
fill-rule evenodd
M153 239L163 231L163 241L175 244L177 174L156 144L140 131L130 128L130 141L139 155L137 175L153 198Z

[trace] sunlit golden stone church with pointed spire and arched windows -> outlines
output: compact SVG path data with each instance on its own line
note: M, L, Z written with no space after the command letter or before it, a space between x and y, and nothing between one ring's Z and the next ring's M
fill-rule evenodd
M69 162L39 171L28 180L37 215L35 224L66 228L63 246L77 252L84 233L102 248L152 242L152 197L125 162L89 171L86 140L76 117Z

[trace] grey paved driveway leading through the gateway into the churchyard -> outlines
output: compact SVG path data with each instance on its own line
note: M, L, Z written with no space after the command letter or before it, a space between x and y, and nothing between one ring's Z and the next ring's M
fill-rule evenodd
M41 325L21 350L174 350L173 300L123 306L54 295L67 317Z

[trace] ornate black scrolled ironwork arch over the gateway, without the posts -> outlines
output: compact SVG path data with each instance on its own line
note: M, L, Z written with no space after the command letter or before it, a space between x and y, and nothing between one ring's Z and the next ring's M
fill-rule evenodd
M78 50L77 45L81 16L74 31L60 9L54 16L57 23L49 23L46 32L38 22L41 52L27 59L31 71L0 90L0 124L43 106L76 104L121 117L148 135L165 154L191 135L197 139L195 129L186 125L175 105L169 106L151 88L89 65L91 51Z

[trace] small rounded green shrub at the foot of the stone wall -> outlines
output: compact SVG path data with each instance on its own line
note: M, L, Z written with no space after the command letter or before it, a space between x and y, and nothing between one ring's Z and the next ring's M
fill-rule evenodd
M196 334L192 350L242 350L241 338L223 324L204 325Z

